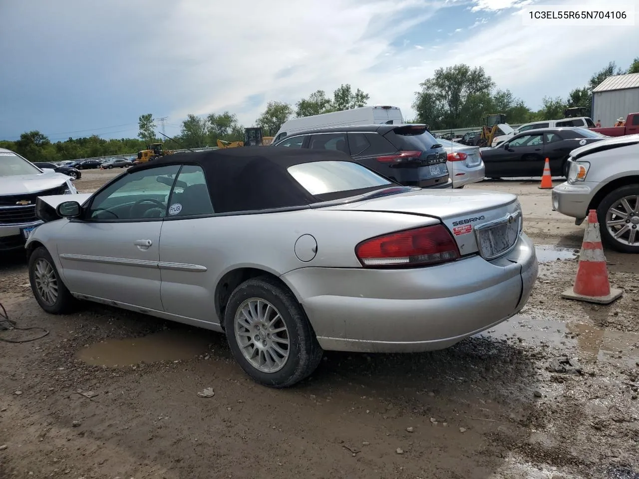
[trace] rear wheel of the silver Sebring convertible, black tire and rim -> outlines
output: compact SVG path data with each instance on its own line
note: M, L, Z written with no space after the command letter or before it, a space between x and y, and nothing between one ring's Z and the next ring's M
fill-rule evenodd
M252 314L256 306L266 317ZM243 314L247 310L250 317ZM251 278L236 287L226 305L224 326L235 360L250 377L265 386L293 386L312 374L323 355L304 309L291 291L272 278ZM282 340L288 340L288 349L284 350ZM265 347L258 347L258 343ZM286 353L286 358L272 345ZM273 352L282 364L275 364ZM269 368L268 360L273 364L271 370L265 370ZM260 366L257 364L260 362L265 364Z

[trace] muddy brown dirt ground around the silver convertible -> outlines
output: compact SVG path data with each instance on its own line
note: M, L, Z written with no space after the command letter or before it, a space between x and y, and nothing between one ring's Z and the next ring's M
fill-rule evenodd
M519 316L435 353L325 353L288 390L250 381L217 333L101 305L49 316L24 259L0 258L10 318L49 331L0 342L0 479L639 478L639 259L606 252L612 305L562 300L583 226L537 181L472 186L518 194L538 245Z

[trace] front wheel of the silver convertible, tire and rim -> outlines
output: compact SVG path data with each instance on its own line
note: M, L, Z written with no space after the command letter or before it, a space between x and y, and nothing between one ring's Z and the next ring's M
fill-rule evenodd
M29 256L29 283L33 296L47 313L63 314L72 310L75 298L66 288L45 247L36 248Z

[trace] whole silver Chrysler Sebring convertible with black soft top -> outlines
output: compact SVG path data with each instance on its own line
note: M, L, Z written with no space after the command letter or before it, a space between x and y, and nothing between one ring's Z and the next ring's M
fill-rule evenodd
M76 199L36 205L45 311L90 300L224 332L268 386L324 349L451 346L520 311L537 277L516 196L397 185L337 151L181 153Z

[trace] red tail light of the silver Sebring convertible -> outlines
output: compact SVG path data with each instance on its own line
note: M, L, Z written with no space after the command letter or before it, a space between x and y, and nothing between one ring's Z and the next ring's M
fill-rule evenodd
M459 248L443 225L398 231L367 239L355 247L357 259L369 268L423 266L459 258Z

